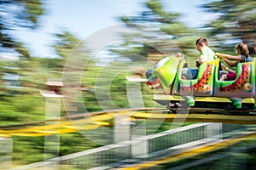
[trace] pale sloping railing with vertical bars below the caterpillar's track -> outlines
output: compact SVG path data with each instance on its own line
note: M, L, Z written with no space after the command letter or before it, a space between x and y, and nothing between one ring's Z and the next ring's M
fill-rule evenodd
M15 169L107 169L124 162L147 160L170 150L191 147L191 144L221 139L223 132L234 131L240 127L241 125L222 123L196 123Z

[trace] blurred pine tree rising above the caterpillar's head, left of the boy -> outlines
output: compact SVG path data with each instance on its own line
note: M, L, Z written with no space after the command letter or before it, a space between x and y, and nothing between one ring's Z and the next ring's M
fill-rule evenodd
M164 50L180 48L182 49L183 54L190 55L193 53L193 50L195 51L195 39L197 38L195 37L196 31L179 21L180 14L166 12L160 0L149 0L145 3L145 7L146 10L137 16L123 16L120 18L127 26L137 28L141 32L133 35L124 35L126 42L132 38L136 39L134 37L145 40L143 47L127 48L127 51L122 49L121 53L129 54L132 50L138 50L138 48L140 48L141 54L144 56L159 60L163 56L159 54L160 52L157 52L157 48ZM162 35L159 34L152 34L154 31L166 33L167 38L161 37ZM168 40L164 41L163 38ZM170 43L170 40L172 40L172 43ZM145 45L149 41L151 41L150 44L154 44L154 48ZM152 41L154 42L152 43ZM173 43L177 46L174 47ZM125 44L123 44L123 46L125 46ZM173 51L170 50L170 52L172 53L177 50L178 49Z

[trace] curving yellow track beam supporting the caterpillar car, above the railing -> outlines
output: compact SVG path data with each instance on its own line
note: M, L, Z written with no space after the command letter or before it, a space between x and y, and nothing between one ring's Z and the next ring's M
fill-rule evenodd
M24 127L20 129L0 129L0 136L44 136L61 133L74 133L79 130L91 130L100 126L108 126L106 121L113 120L113 116L130 116L131 122L134 119L148 119L165 122L223 122L232 124L256 124L256 116L225 116L205 114L163 114L160 111L113 111L109 113L98 113L94 115L80 116L79 119L55 120L53 124L46 124L36 127Z

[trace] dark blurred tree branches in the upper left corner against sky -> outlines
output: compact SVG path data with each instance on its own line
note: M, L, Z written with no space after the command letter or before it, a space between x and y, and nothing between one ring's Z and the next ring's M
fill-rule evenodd
M29 58L28 50L12 35L12 31L38 26L38 16L44 9L40 0L0 0L0 49L15 50Z

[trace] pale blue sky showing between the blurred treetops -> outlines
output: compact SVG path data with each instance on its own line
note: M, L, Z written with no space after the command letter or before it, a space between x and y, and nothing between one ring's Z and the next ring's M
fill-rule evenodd
M45 0L45 14L40 17L37 30L17 32L32 56L55 57L50 45L53 34L65 28L79 38L86 38L108 26L122 24L119 16L137 15L147 0ZM212 14L204 13L197 5L211 0L161 0L166 11L182 14L181 20L191 27L201 26L212 20Z

